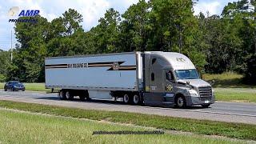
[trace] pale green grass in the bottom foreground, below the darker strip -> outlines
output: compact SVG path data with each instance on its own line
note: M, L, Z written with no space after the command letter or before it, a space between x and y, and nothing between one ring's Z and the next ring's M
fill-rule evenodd
M234 143L183 134L92 135L95 130L152 130L136 126L0 110L1 143ZM236 141L238 143L241 141Z

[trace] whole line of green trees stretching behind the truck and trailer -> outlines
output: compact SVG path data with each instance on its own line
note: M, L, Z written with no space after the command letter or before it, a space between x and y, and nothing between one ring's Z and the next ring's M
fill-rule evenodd
M194 15L191 0L140 0L124 14L106 10L98 25L82 29L82 14L66 10L48 22L17 22L13 62L0 52L0 80L44 82L44 58L161 50L186 54L202 73L234 71L256 82L254 1L230 2L220 15Z

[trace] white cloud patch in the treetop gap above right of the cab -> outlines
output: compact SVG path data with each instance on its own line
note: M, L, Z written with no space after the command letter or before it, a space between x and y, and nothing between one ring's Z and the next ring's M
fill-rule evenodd
M219 14L221 9L221 2L198 2L194 6L194 14L198 15L200 12L203 14L207 14L207 12L210 13L210 15L213 14Z

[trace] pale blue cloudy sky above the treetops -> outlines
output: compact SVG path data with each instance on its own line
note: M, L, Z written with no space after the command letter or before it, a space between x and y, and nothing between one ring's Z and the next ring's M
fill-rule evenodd
M210 15L221 14L223 7L234 1L236 0L199 0L194 6L194 14L207 14L207 11ZM49 22L62 16L69 8L78 10L83 17L82 27L87 31L97 26L98 19L104 16L106 10L114 8L123 14L129 6L137 2L138 0L0 0L0 49L10 50L11 43L14 47L17 42L14 23L8 22L10 18L17 18L8 15L13 6L18 6L20 10L40 10L42 17L47 18Z

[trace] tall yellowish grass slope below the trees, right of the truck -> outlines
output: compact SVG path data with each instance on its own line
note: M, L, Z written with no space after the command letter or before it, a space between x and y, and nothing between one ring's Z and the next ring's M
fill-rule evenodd
M256 88L256 86L242 84L242 75L232 72L223 74L203 74L202 79L214 80L214 87L222 88Z

